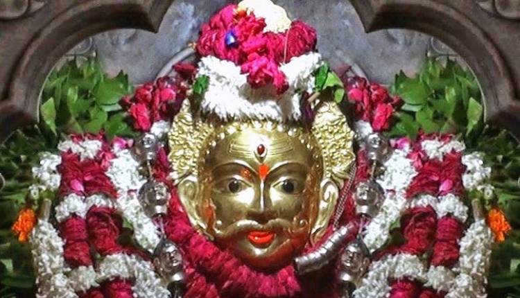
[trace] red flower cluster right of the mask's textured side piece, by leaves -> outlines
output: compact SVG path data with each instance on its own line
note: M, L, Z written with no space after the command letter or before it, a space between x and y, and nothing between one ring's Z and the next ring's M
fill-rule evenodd
M390 96L383 86L365 78L351 77L345 82L349 99L354 102L356 119L367 121L376 132L390 128L390 118L401 99Z

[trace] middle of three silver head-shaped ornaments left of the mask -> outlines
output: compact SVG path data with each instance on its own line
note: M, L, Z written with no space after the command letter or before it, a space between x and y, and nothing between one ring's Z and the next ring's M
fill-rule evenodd
M168 187L154 179L148 180L139 189L139 202L143 206L144 213L150 218L166 214L170 193Z

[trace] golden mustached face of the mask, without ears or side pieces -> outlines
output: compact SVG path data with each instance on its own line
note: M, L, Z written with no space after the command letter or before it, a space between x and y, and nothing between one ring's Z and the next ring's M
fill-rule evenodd
M286 265L309 240L322 168L313 139L300 137L248 128L218 141L202 165L207 233L253 267Z

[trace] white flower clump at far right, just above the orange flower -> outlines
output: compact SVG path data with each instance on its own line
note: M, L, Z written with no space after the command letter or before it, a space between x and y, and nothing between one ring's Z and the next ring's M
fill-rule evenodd
M494 187L485 181L491 176L491 167L484 166L483 153L473 152L463 156L462 164L466 166L466 172L462 175L464 187L470 191L480 191L484 193L485 198L490 198L494 193Z

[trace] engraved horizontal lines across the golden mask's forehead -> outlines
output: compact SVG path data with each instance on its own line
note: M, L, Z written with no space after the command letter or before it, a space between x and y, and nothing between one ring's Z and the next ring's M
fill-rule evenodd
M227 152L235 157L250 157L254 155L259 145L266 147L268 155L280 155L293 150L291 139L284 136L282 139L275 139L270 143L263 143L262 141L258 141L258 143L241 143L240 139L234 139L229 142Z

